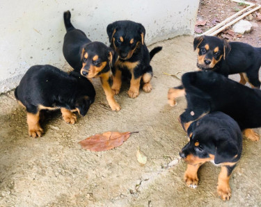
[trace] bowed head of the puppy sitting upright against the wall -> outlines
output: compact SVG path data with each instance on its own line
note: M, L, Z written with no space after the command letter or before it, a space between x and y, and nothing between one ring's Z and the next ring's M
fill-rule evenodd
M119 58L128 60L144 44L145 28L136 22L117 21L107 26L107 34Z

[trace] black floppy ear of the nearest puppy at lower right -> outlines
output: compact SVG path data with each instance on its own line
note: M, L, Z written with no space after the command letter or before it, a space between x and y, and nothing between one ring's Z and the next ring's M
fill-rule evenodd
M235 142L230 142L228 140L223 140L217 143L216 154L214 158L214 163L226 163L235 162L235 158L239 154L239 149Z

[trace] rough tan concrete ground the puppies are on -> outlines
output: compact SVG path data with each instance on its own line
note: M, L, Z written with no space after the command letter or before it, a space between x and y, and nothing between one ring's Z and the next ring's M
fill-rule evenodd
M220 168L210 163L200 167L198 188L183 181L186 164L178 152L187 138L177 117L186 101L180 97L177 106L168 106L168 88L180 80L163 72L181 76L196 69L192 42L193 37L180 36L152 45L163 46L151 62L152 92L141 90L130 99L128 84L123 85L116 97L119 112L109 108L95 79L97 98L86 117L70 125L59 111L47 113L41 138L29 138L25 110L13 92L1 94L0 206L261 206L260 141L244 138L242 159L230 179L230 201L218 197ZM109 151L81 149L80 140L105 131L139 133ZM137 147L148 156L145 165L136 160Z

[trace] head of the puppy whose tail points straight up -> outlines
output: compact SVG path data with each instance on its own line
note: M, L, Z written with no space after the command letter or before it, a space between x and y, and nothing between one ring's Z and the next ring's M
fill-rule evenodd
M113 65L113 50L102 42L90 42L81 48L81 75L95 78Z

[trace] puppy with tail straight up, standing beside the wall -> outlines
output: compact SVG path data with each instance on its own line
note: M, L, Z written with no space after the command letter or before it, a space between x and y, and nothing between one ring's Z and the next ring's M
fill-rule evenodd
M86 78L100 77L106 99L112 110L120 110L120 105L114 99L109 85L111 66L117 55L102 42L91 42L86 34L72 26L70 11L63 14L67 33L63 41L63 56L76 72L81 72Z

